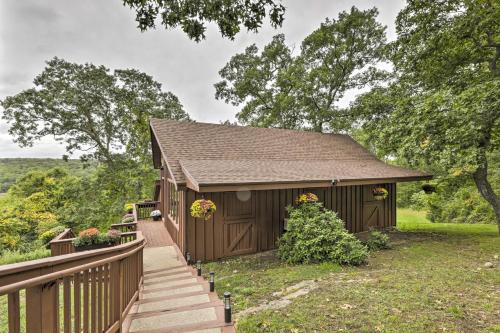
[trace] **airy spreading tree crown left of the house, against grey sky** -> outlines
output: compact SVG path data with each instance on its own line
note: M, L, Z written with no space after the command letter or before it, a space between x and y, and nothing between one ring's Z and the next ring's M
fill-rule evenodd
M54 58L34 80L35 87L1 101L2 118L22 147L52 135L69 154L87 151L83 159L111 166L147 159L151 117L188 120L175 95L137 70L75 64Z

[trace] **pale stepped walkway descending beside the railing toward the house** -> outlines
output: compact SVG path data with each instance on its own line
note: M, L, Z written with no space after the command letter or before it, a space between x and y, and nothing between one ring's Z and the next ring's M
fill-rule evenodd
M124 332L234 332L224 323L217 294L188 266L162 222L138 222L144 249L144 285L123 325Z

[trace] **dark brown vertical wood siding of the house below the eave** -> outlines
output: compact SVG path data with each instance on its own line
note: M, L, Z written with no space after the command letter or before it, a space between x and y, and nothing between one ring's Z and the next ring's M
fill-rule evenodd
M389 196L383 201L374 200L372 189L375 186L385 187ZM351 232L396 225L396 184L388 183L247 193L198 193L185 189L182 196L185 214L180 214L183 222L179 223L185 238L179 237L181 233L172 229L175 227L167 225L167 228L183 253L190 252L195 260L210 261L271 250L284 231L285 207L304 192L318 195L326 208L339 214ZM189 213L193 201L201 198L210 199L217 205L217 211L208 221L195 219Z

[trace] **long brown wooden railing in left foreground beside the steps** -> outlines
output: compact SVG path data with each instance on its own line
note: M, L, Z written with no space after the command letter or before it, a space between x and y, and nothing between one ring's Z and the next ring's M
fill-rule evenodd
M0 266L9 333L120 332L137 300L143 248L136 239L110 248ZM26 320L21 321L21 318Z

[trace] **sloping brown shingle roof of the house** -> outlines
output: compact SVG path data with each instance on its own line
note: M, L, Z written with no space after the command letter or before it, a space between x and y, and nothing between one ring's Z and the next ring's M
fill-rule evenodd
M177 183L261 184L428 177L387 165L351 137L152 119Z

